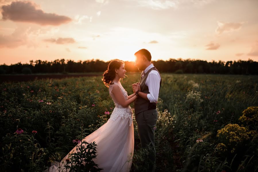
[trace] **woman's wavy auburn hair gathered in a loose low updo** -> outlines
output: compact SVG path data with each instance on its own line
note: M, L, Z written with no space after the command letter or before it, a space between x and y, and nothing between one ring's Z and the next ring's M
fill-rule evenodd
M122 60L112 60L108 64L108 69L103 73L103 78L101 79L103 81L103 83L106 85L106 87L109 87L109 85L113 84L113 83L111 83L111 81L116 76L115 69L119 69L122 64L125 65L125 62L123 62Z

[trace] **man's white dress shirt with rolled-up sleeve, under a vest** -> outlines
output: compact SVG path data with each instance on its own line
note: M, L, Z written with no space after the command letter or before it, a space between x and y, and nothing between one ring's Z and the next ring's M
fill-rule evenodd
M149 69L153 68L154 65L150 64L146 69L143 71L144 73L148 72ZM144 76L144 74L143 74ZM147 98L150 100L150 103L154 103L158 101L158 95L160 90L160 74L156 70L150 71L145 84L148 86L149 93L147 94Z

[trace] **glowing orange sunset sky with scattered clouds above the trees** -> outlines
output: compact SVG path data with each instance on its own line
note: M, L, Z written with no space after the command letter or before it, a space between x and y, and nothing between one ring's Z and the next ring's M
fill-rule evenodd
M0 64L55 59L258 61L257 0L0 0Z

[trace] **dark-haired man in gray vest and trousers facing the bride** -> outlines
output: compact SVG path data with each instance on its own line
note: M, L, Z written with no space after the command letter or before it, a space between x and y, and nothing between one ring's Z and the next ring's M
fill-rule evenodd
M158 119L156 102L161 87L161 76L159 71L151 63L151 54L146 49L141 49L135 54L135 66L142 71L139 83L132 84L133 92L137 95L134 101L135 120L141 140L141 147L150 145L154 150L149 152L148 171L155 171L156 150L154 145L154 126Z

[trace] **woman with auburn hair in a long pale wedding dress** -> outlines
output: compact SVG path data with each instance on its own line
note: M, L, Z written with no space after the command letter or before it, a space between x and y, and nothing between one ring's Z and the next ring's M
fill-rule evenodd
M102 81L106 87L109 87L109 94L115 103L115 108L105 124L82 139L82 142L96 142L97 157L92 160L98 164L98 168L103 169L102 172L129 172L131 169L134 151L134 128L133 111L130 104L137 99L135 92L140 90L140 86L139 84L133 86L134 93L128 96L120 82L120 79L126 76L125 73L123 61L112 60L108 64L108 69L104 72ZM65 171L64 162L68 155L74 153L74 151L76 151L76 146L60 163L55 161L56 163L44 172Z

